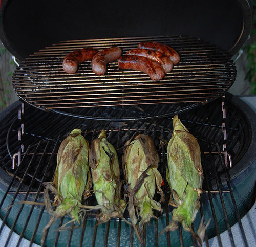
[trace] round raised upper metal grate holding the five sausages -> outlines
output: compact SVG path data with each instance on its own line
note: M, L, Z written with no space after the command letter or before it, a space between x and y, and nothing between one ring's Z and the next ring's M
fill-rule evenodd
M83 47L103 49L119 46L123 54L141 41L157 41L175 48L181 61L158 82L137 71L121 70L111 62L103 76L92 72L91 62L79 65L76 74L66 74L63 58ZM20 98L41 109L89 119L141 119L174 114L207 103L223 95L236 79L236 66L224 51L200 39L167 36L65 41L31 55L13 75L13 87ZM162 107L168 104L169 107ZM124 108L98 117L88 108ZM155 108L152 112L152 108ZM82 110L81 110L82 109Z

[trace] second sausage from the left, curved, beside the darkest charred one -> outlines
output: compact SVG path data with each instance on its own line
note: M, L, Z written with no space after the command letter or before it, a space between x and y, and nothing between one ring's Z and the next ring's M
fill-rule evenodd
M92 70L96 75L104 75L109 62L118 59L122 55L119 47L106 48L99 51L92 59Z

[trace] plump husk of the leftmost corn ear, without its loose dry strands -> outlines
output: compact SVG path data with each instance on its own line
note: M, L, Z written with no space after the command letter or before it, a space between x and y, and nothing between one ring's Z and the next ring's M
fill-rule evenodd
M79 221L79 204L86 189L89 175L89 143L81 136L80 129L74 129L61 143L57 155L54 186L61 199L59 208L73 208L69 214Z

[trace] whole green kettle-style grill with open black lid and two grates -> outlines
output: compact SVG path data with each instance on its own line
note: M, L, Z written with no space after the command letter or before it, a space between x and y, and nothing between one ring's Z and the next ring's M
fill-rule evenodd
M237 73L231 56L250 33L251 3L129 1L122 6L119 2L1 2L0 37L20 64L13 75L20 102L0 119L1 209L22 200L44 201L43 182L52 181L58 147L75 127L82 129L89 142L106 129L120 164L125 141L135 132L149 134L165 177L166 147L160 148L159 143L170 139L172 116L179 114L202 151L204 193L195 230L202 216L206 221L211 218L205 244L217 236L221 245L220 233L227 230L234 245L230 227L238 222L247 246L241 217L253 203L255 114L227 91ZM155 18L156 13L161 18ZM89 62L73 75L61 68L62 59L72 50L117 45L124 53L144 40L167 43L181 55L180 63L159 82L140 72L120 70L116 61L100 77L91 72ZM196 245L181 226L158 235L173 209L167 203L170 192L164 182L164 212L144 227L145 245ZM87 203L96 204L94 195ZM124 217L129 219L127 212ZM32 245L40 242L49 214L43 205L17 204L1 211L1 218L0 238L5 225L11 229L4 239L6 246L14 232L20 236L17 245L23 238ZM95 215L85 214L80 227L69 224L65 231L56 231L69 220L65 216L52 226L47 246L139 244L133 228L122 219L98 225Z

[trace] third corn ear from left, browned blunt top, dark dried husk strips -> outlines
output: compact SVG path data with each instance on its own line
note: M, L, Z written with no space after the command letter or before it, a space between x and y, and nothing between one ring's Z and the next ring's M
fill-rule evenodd
M160 202L153 199L156 191L162 194L160 201L164 200L161 190L162 176L157 170L159 156L153 140L144 134L136 134L125 143L123 155L123 170L129 191L128 211L136 234L141 241L141 230L149 222L153 210L162 212ZM136 211L141 218L139 229L137 227Z

